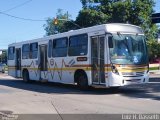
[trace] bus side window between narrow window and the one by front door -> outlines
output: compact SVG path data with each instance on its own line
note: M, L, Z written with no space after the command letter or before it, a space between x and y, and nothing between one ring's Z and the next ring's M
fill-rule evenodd
M53 57L65 57L67 56L68 38L59 38L53 40Z

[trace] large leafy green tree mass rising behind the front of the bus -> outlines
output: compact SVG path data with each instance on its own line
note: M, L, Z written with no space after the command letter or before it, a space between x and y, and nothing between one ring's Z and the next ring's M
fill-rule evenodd
M154 0L81 0L83 9L76 23L82 27L103 23L130 23L142 27L153 40L157 26L151 23ZM93 3L99 3L97 5Z

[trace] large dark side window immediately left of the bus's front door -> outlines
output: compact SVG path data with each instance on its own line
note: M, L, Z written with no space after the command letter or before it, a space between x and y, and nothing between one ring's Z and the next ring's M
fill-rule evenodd
M81 34L71 36L69 39L69 56L83 56L87 54L88 49L88 35Z

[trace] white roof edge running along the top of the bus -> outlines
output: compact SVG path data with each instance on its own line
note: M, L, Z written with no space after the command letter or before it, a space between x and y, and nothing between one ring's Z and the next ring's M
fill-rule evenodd
M68 37L68 36L72 36L72 35L90 33L90 32L101 31L101 30L104 30L107 33L122 32L122 33L143 34L143 30L139 26L135 26L135 25L131 25L131 24L122 24L122 23L109 23L109 24L96 25L96 26L77 29L77 30L70 30L68 32L45 36L43 38L26 40L26 41L22 41L22 42L16 42L16 43L10 44L9 46L27 44L27 43L31 43L31 42L40 42L40 41L44 41L46 39L50 40L50 39L56 39L59 37Z

